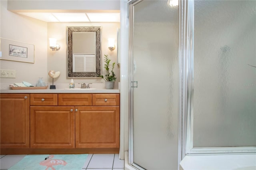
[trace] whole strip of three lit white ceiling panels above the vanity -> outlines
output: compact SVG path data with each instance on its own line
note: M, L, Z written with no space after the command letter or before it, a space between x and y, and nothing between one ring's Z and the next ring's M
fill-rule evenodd
M17 12L45 22L120 22L120 13L97 12Z

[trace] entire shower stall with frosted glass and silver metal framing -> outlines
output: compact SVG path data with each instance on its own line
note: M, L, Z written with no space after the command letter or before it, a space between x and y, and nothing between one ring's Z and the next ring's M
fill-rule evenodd
M130 0L129 164L256 152L256 1Z

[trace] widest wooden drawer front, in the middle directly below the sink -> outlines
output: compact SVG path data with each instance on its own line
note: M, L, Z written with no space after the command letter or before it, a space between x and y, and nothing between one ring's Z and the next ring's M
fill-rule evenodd
M91 106L92 94L59 94L59 106Z

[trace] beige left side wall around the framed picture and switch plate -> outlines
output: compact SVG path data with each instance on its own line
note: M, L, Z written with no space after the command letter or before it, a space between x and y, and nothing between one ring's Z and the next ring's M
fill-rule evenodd
M1 69L16 70L16 78L1 78L1 83L36 82L47 76L47 23L14 14L1 3L0 37L34 44L34 63L0 60ZM1 49L2 50L2 49Z

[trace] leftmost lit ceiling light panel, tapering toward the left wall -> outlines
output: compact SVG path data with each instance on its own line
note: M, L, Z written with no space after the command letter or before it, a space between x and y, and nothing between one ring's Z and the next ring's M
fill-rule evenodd
M51 13L47 12L18 12L19 14L36 18L45 22L59 22Z

